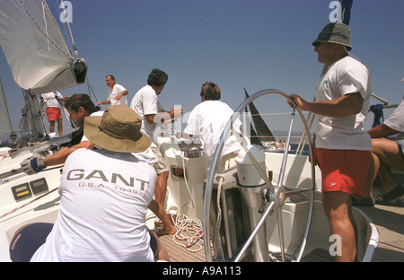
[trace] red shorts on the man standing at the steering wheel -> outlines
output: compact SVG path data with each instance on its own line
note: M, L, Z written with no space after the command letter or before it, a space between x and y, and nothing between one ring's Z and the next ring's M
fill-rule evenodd
M370 151L316 149L321 170L322 192L342 191L364 196Z

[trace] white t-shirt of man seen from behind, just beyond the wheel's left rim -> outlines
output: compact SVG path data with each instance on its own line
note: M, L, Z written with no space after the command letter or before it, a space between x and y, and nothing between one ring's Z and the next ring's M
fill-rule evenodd
M184 132L193 136L200 136L204 145L207 166L215 152L215 147L219 143L224 127L232 117L234 111L222 101L203 101L192 109L188 125ZM240 131L242 121L237 118L233 124L236 131ZM222 156L233 153L242 148L235 136L229 136L224 143Z

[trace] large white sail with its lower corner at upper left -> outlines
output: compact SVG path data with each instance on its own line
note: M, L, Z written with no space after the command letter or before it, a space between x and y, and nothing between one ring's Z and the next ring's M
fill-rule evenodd
M15 82L31 94L84 83L87 66L72 56L43 0L0 0L0 46Z

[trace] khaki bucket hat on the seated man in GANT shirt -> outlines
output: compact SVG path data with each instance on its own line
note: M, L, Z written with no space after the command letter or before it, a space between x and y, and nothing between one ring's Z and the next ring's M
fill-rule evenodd
M140 132L142 118L126 105L110 106L100 116L84 119L84 135L97 146L119 153L141 153L152 144Z

